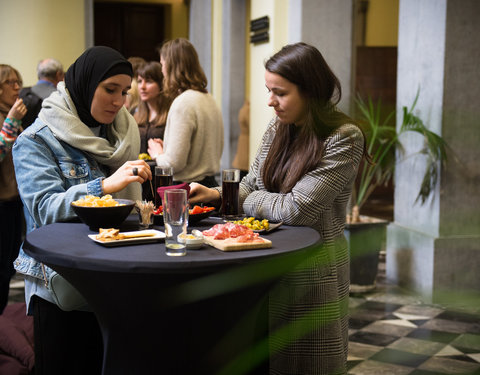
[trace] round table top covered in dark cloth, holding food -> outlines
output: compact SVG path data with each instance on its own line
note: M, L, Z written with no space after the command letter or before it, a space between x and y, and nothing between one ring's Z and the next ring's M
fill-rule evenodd
M189 226L188 232L195 228L206 230L219 223L222 223L219 218L208 218L195 226ZM163 227L154 229L163 231ZM138 217L129 216L120 230L138 230ZM272 241L272 248L269 249L226 252L204 245L197 250L187 250L185 256L171 257L165 254L163 240L106 247L88 237L95 233L83 223L49 224L28 233L23 249L28 255L49 266L105 272L160 273L179 272L182 269L192 272L218 265L238 265L304 250L320 243L320 235L312 228L282 225L275 231L262 234L262 237Z

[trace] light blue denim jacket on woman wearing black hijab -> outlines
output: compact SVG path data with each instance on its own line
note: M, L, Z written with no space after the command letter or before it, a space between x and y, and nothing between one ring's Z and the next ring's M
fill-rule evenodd
M106 171L86 153L55 138L50 128L37 119L13 146L13 161L18 190L24 204L27 233L40 226L68 221L76 217L70 203L89 194L103 195L102 179ZM15 269L26 275L26 300L53 270L44 267L20 249ZM36 280L32 279L40 279ZM29 294L29 290L32 290ZM45 292L45 291L44 291ZM48 299L48 298L47 298Z

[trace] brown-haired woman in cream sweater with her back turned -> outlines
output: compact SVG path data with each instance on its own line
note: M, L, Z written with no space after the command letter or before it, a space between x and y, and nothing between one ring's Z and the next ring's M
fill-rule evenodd
M223 151L223 120L207 91L207 77L198 54L186 39L164 43L160 49L163 90L172 105L164 142L148 141L148 153L160 167L172 167L173 179L217 186Z

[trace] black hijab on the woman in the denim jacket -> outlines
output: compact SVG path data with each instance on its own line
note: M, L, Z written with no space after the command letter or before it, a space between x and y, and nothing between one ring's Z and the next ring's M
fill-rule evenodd
M68 68L65 86L75 103L78 116L89 127L102 125L90 113L93 95L100 82L117 74L133 77L132 64L118 51L97 46L87 49Z

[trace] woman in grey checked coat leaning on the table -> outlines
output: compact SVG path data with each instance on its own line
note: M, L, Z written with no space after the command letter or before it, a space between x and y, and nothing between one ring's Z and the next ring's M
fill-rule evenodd
M321 53L296 43L265 63L276 117L240 184L247 216L315 228L323 245L270 293L270 374L346 374L349 255L346 206L362 157L362 131L336 109L340 83ZM190 200L221 189L192 186Z

